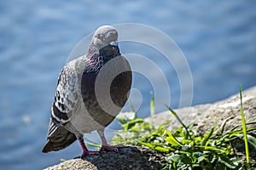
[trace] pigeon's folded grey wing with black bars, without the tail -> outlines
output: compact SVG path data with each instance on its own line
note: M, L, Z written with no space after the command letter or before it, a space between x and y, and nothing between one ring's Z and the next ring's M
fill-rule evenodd
M48 139L60 131L61 125L70 122L79 109L79 80L75 61L64 66L58 78L55 100L51 107Z

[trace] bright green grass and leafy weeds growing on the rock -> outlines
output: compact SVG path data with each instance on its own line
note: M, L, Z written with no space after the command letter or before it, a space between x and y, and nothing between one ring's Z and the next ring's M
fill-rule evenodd
M151 101L150 109L153 116L154 101ZM167 109L170 111L170 118L160 127L154 127L153 123L138 118L134 111L121 113L118 119L124 128L115 134L113 143L143 145L165 153L162 169L253 169L249 160L248 143L256 149L256 139L248 132L255 131L256 127L246 128L242 102L242 126L237 125L225 133L216 130L216 126L214 126L204 135L198 135L192 130L193 124L184 125L175 111L168 106ZM171 116L174 116L181 124L173 132L166 129ZM247 124L253 123L256 122L248 122ZM224 128L224 125L225 122L221 127ZM247 161L242 160L241 153L236 152L233 148L232 143L235 140L237 142L237 139L244 139L245 141Z

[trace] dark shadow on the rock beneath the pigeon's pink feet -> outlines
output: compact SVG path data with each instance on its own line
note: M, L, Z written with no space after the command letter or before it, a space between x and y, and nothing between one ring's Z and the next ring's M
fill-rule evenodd
M122 147L117 152L109 151L85 156L97 169L160 169L165 158L159 152L143 147Z

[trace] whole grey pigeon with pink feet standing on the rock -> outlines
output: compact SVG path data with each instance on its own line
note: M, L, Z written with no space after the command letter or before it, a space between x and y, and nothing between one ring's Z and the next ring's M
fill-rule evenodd
M124 107L131 79L131 66L119 52L118 32L113 26L99 27L87 54L68 62L58 77L42 152L62 150L79 140L81 157L99 153L84 144L84 133L95 130L102 139L100 151L117 151L118 146L108 144L104 129Z

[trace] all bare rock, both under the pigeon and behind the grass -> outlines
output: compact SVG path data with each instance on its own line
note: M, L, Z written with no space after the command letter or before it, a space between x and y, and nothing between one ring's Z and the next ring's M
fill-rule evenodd
M249 88L243 92L243 108L247 122L256 121L256 87ZM193 127L199 133L207 133L215 123L217 128L225 123L224 131L241 124L240 97L239 94L228 99L218 101L214 104L196 105L175 110L184 124L194 122ZM160 125L170 118L171 122L167 128L174 129L180 126L177 120L171 116L169 111L162 112L146 121L153 122L155 126ZM250 125L256 127L255 123ZM247 127L250 127L247 126ZM250 134L256 135L256 132ZM237 150L244 152L243 144L238 142ZM256 150L250 149L250 156L253 162L256 160ZM84 160L73 159L61 162L47 170L56 169L160 169L160 163L165 161L164 157L154 150L143 147L124 147L118 152L107 152L100 155L86 156Z

